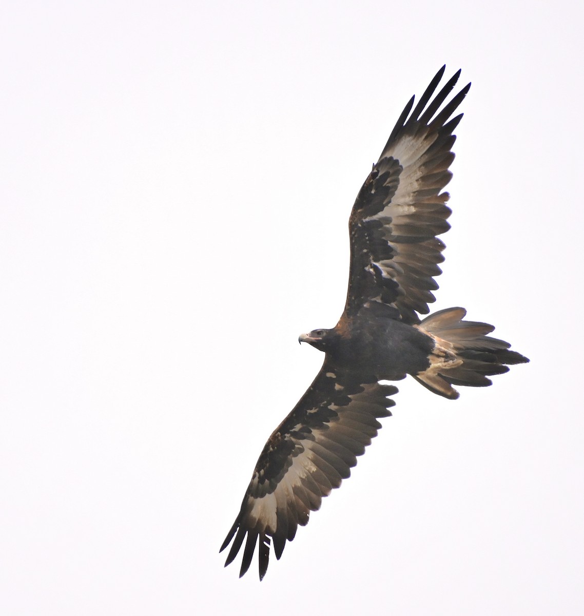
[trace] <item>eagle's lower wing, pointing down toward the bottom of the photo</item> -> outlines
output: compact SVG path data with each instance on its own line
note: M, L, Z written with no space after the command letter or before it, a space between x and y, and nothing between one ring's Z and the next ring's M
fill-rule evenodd
M259 539L259 578L266 574L270 538L279 559L286 540L310 511L320 508L323 496L338 488L357 464L394 405L391 385L373 377L344 373L325 360L317 378L294 410L275 429L259 456L241 510L221 551L235 537L225 566L235 559L245 541L240 577L249 569Z

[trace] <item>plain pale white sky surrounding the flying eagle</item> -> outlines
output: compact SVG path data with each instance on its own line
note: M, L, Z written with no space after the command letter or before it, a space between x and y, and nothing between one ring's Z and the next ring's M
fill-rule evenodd
M2 614L582 614L576 4L2 4ZM341 314L354 198L443 63L473 84L435 307L532 363L399 383L238 580L219 546L322 362L298 334Z

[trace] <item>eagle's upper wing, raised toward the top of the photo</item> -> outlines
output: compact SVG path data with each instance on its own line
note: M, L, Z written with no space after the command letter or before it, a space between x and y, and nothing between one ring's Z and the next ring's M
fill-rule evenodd
M406 323L419 323L416 312L426 314L434 301L431 291L438 285L433 277L444 261L444 243L436 235L450 228L449 195L441 191L452 177L452 131L462 114L451 116L471 86L436 113L460 75L458 71L430 102L444 68L411 114L413 97L405 106L353 206L347 315L369 305Z

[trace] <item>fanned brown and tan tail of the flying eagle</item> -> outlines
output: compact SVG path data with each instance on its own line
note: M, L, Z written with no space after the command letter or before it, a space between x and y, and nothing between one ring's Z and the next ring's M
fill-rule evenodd
M418 325L434 339L430 367L414 376L435 394L455 399L452 385L487 387L487 378L509 371L508 365L529 362L527 357L509 351L509 342L487 336L495 328L489 323L464 321L464 308L439 310Z

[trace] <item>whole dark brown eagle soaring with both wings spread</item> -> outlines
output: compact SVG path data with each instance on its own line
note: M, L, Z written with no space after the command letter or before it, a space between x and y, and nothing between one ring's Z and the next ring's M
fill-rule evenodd
M240 577L258 546L259 578L266 574L270 541L276 558L323 496L349 477L357 456L391 415L388 396L406 375L434 394L454 400L453 386L484 387L489 376L529 360L492 338L487 323L465 321L464 308L424 319L434 277L441 273L450 209L442 192L452 177L452 117L471 84L439 111L460 70L435 94L442 67L420 101L410 99L365 180L351 217L347 301L330 330L301 334L325 353L320 372L293 411L275 429L259 456L240 512L221 551L233 541L225 566L243 548ZM412 110L413 108L413 110Z

